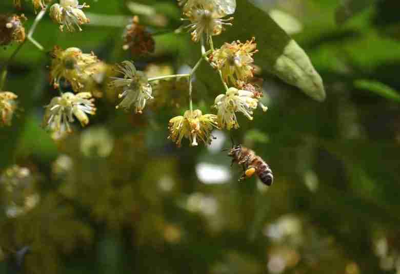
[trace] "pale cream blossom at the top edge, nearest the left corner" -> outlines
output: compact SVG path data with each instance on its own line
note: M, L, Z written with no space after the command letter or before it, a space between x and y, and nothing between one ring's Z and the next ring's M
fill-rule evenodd
M86 3L79 5L78 0L60 0L59 4L50 7L50 17L60 24L61 31L66 27L68 31L74 32L75 26L82 31L81 25L90 22L82 11L83 8L89 8L89 6Z

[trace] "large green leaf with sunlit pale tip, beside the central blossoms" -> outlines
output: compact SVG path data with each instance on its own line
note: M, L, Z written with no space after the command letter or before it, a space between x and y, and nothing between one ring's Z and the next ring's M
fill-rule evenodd
M227 27L221 36L215 36L215 47L255 37L259 50L254 55L257 66L298 87L315 100L323 101L326 95L322 78L304 50L266 12L246 0L237 0L236 4L233 26ZM187 50L195 64L200 58L200 46L192 44ZM210 78L210 70L199 74L206 84L217 81L217 78Z

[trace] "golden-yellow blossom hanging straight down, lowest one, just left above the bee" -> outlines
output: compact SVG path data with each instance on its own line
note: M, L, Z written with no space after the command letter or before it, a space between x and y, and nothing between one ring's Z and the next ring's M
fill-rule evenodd
M214 114L202 114L201 110L187 110L184 116L176 116L169 120L169 139L181 146L182 138L190 140L190 145L197 145L197 141L210 144L213 136L211 131L218 128L217 117Z

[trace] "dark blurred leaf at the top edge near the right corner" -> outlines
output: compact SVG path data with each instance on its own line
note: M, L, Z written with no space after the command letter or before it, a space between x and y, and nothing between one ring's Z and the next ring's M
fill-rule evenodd
M344 24L348 19L362 12L376 0L343 0L335 12L335 20L338 25Z

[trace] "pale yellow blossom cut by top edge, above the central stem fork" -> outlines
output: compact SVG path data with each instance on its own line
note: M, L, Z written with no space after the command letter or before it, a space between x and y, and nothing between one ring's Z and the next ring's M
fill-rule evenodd
M224 25L232 26L229 23L233 17L223 19L227 14L218 9L216 2L210 0L188 0L184 6L184 14L188 17L191 24L185 26L191 31L192 40L197 42L206 34L207 39L210 36L219 35L224 30Z

